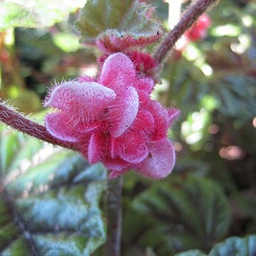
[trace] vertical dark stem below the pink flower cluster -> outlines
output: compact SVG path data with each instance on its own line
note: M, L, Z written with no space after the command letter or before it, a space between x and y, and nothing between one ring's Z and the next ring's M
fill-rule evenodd
M122 236L122 177L107 180L106 256L119 256Z

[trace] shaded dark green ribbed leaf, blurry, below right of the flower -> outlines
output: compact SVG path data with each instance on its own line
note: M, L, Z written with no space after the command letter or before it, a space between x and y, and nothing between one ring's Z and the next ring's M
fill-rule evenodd
M159 255L195 247L209 250L230 225L230 206L218 184L192 175L173 175L171 183L152 186L133 206L155 221L140 243L157 248Z

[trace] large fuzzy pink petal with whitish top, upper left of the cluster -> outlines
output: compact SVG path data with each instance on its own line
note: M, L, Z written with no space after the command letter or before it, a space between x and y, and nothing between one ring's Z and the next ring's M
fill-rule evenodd
M55 87L46 107L55 107L70 114L70 119L95 119L110 104L116 94L97 82L63 82Z

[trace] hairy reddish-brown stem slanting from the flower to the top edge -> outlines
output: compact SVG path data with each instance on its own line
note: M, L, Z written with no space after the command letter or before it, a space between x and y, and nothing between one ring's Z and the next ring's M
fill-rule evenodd
M181 20L178 24L167 34L167 36L160 43L154 53L154 58L157 63L161 63L166 54L174 48L176 42L190 28L195 21L205 12L218 4L220 0L198 0L192 3L186 11L181 14Z

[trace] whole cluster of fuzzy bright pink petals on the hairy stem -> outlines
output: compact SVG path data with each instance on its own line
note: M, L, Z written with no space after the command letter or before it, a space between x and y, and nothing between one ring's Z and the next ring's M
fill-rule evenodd
M167 138L179 111L150 99L154 81L139 75L123 53L108 56L97 78L82 77L56 86L45 106L48 132L78 144L83 156L101 161L115 178L134 169L164 178L174 167L174 146Z

